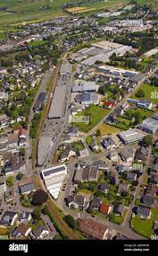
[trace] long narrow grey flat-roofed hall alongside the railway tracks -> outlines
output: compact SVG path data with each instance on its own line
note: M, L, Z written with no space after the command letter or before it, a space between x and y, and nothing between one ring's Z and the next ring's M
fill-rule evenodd
M54 91L54 98L48 113L48 119L60 119L63 114L63 107L65 102L66 86L56 86Z

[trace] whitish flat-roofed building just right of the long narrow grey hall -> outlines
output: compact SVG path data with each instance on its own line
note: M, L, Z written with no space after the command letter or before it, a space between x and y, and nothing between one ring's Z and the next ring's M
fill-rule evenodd
M72 87L72 93L95 93L96 82L89 82L84 80L76 80Z

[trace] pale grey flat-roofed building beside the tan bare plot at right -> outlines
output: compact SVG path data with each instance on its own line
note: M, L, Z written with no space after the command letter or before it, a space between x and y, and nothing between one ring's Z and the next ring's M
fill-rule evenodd
M121 141L124 144L131 144L137 141L142 140L146 134L143 132L139 132L137 129L128 129L125 131L121 131L118 134L118 137L120 137Z

